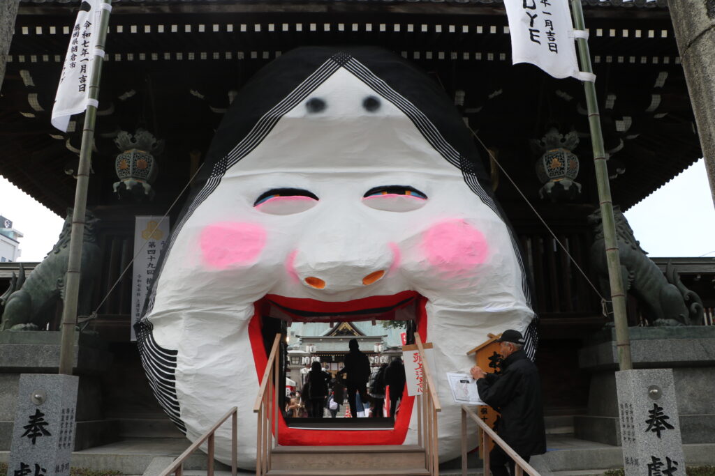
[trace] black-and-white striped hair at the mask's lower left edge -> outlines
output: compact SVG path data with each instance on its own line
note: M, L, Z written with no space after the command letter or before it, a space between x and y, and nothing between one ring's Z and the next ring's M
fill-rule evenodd
M154 326L147 318L139 321L136 326L142 367L144 367L144 373L149 379L149 386L154 391L159 405L167 412L174 425L186 433L186 426L182 422L179 412L179 400L177 400L175 376L177 351L160 347L152 335L153 329Z

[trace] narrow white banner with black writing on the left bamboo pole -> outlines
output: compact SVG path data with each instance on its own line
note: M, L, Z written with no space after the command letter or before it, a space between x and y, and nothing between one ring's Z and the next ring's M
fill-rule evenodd
M69 37L67 54L64 57L62 74L52 108L52 126L66 132L69 118L87 109L89 79L92 77L94 49L99 36L99 16L102 0L82 0L77 21Z

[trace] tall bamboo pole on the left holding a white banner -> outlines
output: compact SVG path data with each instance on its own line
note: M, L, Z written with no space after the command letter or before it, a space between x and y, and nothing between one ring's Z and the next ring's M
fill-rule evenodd
M103 0L112 5L112 0ZM97 49L104 51L109 26L109 10L102 9L99 16L99 37ZM102 77L102 56L94 55L94 67L89 78L88 97L99 99L99 80ZM92 102L92 101L90 101ZM64 302L62 304L62 336L59 347L59 373L72 375L74 367L74 328L77 325L77 298L79 296L79 271L82 267L82 242L84 241L84 215L87 211L87 186L89 168L92 166L92 144L94 143L94 123L97 121L97 107L87 105L84 113L82 146L79 151L77 168L77 187L74 190L74 211L72 212L72 231L69 238L69 260L64 278Z

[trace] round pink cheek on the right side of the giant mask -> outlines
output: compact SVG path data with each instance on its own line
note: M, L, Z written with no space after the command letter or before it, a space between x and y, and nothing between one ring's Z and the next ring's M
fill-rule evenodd
M484 235L463 220L446 221L430 228L422 248L431 265L447 272L484 263L489 247Z

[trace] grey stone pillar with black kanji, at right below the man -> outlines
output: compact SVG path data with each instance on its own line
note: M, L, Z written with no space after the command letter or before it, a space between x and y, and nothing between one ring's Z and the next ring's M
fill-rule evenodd
M671 369L616 372L626 476L685 476Z

